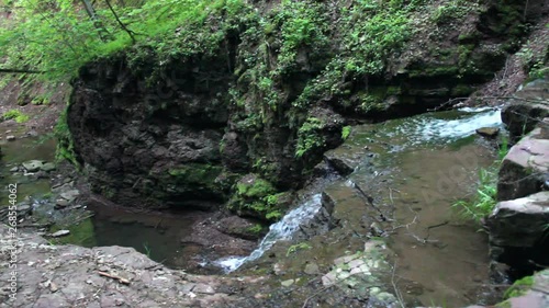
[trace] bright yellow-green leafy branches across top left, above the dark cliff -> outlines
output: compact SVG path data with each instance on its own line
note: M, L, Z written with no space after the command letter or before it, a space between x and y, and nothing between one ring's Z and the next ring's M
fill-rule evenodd
M12 1L7 4L12 19L0 21L1 67L43 72L27 78L67 81L83 64L133 44L152 46L164 59L212 53L236 23L211 31L203 26L205 21L224 14L236 19L245 5L240 0L126 1L125 7L111 2L136 42L104 2L94 2L96 14L90 16L81 1Z

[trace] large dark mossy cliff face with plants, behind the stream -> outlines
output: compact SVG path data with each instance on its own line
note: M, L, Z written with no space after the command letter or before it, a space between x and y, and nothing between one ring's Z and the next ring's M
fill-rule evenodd
M141 45L89 64L68 109L75 157L121 204L211 208L233 195L235 209L265 218L347 123L470 94L535 16L518 0L419 2L259 2L211 16L216 38L193 33L191 52ZM243 202L235 183L249 173L258 184Z

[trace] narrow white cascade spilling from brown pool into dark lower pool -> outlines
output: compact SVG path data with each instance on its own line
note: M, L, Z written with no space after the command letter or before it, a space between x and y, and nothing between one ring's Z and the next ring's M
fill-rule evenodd
M261 240L259 247L250 253L250 255L223 258L213 263L222 267L227 273L235 271L245 262L254 261L260 258L277 241L290 239L300 225L312 219L320 209L321 194L315 194L299 207L290 210L280 221L271 225L269 232Z

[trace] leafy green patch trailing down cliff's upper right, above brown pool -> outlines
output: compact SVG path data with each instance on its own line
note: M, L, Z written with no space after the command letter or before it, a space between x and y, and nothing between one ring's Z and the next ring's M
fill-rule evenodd
M322 98L348 95L348 81L368 76L382 75L388 60L397 55L412 37L412 14L423 1L354 1L354 5L341 5L334 32L339 49L323 72L310 81L293 105L301 110ZM370 105L365 104L366 111Z

